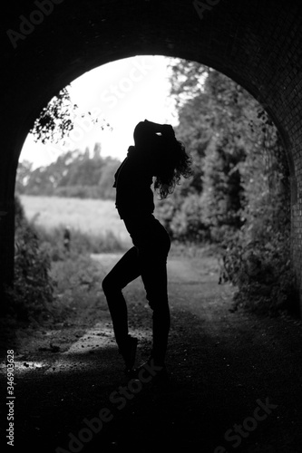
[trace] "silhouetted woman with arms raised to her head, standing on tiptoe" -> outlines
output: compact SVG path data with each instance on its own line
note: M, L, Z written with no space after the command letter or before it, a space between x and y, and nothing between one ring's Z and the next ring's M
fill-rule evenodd
M127 305L122 289L141 275L146 298L152 310L152 349L149 360L165 369L170 330L167 290L167 256L170 236L153 216L153 191L166 198L180 182L189 178L190 157L176 140L169 124L141 121L134 129L134 144L115 174L116 207L133 246L102 281L112 316L113 332L125 362L131 371L135 362L137 339L128 332ZM154 179L153 179L154 178Z

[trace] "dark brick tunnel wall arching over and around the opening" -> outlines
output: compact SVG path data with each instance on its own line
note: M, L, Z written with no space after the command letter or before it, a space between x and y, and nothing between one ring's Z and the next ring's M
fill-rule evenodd
M302 289L301 2L203 0L196 5L190 0L16 0L4 5L2 282L12 278L15 169L36 116L83 72L135 54L163 54L224 72L275 120L291 171L293 265Z

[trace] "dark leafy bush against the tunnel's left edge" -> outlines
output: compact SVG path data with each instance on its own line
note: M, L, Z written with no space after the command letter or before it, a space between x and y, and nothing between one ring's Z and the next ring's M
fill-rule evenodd
M15 198L15 280L5 294L6 311L23 320L49 313L53 302L51 261L39 237Z

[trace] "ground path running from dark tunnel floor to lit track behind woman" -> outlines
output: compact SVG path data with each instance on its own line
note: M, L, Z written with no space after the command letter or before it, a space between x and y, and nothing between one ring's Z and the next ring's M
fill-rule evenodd
M94 259L109 269L118 255ZM123 375L103 297L63 323L11 337L4 328L2 378L6 350L15 351L13 451L302 452L301 323L234 312L214 257L172 256L168 269L168 383ZM151 311L139 279L125 295L139 364Z

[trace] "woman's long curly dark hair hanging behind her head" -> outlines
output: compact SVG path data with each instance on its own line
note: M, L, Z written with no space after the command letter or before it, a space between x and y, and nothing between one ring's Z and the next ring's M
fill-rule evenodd
M154 179L154 189L160 194L160 198L167 198L180 178L192 176L191 158L187 154L183 143L175 137L166 138L161 136L161 145L157 150L157 165Z

